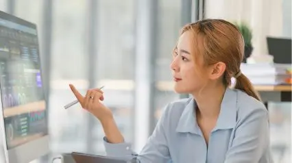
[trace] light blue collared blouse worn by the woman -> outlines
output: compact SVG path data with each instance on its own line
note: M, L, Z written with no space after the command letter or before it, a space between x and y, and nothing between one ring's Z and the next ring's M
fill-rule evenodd
M211 99L210 99L211 100ZM130 143L111 144L108 156L139 162L270 163L269 122L265 105L241 90L227 88L208 146L195 116L195 100L169 103L139 155Z

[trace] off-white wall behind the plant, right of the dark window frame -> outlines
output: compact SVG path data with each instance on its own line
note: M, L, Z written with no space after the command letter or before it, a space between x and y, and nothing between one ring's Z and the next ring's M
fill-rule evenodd
M290 3L290 8L283 10L286 6L283 1ZM272 61L267 51L267 36L283 36L283 31L289 34L289 29L291 36L291 0L206 0L205 16L248 23L253 31L251 62Z

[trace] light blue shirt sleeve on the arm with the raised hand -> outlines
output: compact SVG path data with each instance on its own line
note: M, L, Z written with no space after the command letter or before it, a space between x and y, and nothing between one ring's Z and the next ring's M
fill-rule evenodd
M132 151L131 144L124 142L119 144L111 144L104 138L104 145L106 148L106 155L110 157L124 158L126 160L136 159L137 162L169 162L170 154L167 145L167 136L165 133L165 124L167 118L167 110L162 114L158 121L153 134L148 138L145 147L143 147L140 154Z

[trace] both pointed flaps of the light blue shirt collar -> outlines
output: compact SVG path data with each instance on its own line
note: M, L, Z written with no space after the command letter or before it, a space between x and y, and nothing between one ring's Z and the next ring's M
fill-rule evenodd
M237 114L237 93L236 90L226 88L226 91L223 96L221 103L221 109L217 119L217 124L212 131L218 129L232 129L236 125L236 114ZM190 132L192 134L201 135L202 132L197 125L197 118L195 114L195 99L191 98L188 100L178 126L175 131L177 132Z

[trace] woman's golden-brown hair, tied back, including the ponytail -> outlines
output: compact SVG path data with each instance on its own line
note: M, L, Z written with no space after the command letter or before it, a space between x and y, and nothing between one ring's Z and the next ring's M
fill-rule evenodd
M236 77L234 88L243 90L260 101L250 79L240 71L244 53L244 40L239 29L222 19L205 19L182 27L181 34L191 31L193 34L193 57L202 57L205 65L223 62L226 71L223 84L230 86L231 77ZM196 60L195 60L196 61Z

